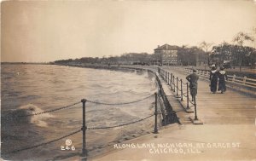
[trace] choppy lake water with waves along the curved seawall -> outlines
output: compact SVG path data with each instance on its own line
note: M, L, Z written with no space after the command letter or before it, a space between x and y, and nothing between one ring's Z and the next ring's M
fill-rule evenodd
M54 65L1 66L1 140L2 158L19 160L61 159L81 152L82 132L69 136L75 150L61 150L67 138L42 147L32 147L81 129L82 103L60 111L15 118L67 106L81 99L106 103L137 101L154 94L154 76L148 72L109 71ZM146 118L154 113L154 95L144 101L125 105L86 102L86 125L108 127ZM114 129L86 131L87 149L94 156L114 143L147 134L153 118Z

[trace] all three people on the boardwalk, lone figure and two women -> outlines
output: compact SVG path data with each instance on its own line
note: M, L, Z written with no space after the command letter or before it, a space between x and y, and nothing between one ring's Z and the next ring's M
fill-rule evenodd
M189 74L189 76L186 77L186 79L189 81L189 89L190 89L190 95L192 96L192 101L195 100L195 95L197 94L197 81L199 79L198 75L196 74L196 70L193 69L193 73ZM224 71L224 67L221 66L220 70L218 71L216 69L216 66L212 66L211 72L210 72L210 89L212 94L215 94L217 91L220 90L222 94L226 91L226 83L225 81L228 80L228 76L226 72Z

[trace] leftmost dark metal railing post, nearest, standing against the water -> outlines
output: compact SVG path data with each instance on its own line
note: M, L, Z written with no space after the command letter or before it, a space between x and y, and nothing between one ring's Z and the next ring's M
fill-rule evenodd
M82 131L83 131L83 149L82 149L82 151L83 151L83 153L82 153L82 157L84 157L83 160L86 161L87 160L86 140L85 140L85 137L86 137L85 132L87 129L87 127L85 125L85 102L86 102L86 100L83 99L83 100L81 100L81 102L83 103L83 127L82 127Z

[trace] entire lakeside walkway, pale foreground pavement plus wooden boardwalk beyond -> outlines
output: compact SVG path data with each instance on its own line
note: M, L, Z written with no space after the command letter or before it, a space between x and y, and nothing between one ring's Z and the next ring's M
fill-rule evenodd
M137 66L141 67L157 70L156 66ZM184 82L188 75L172 67L163 66L161 69L172 72ZM189 122L189 116L193 118L194 112L184 110L183 101L175 97L176 93L166 83L168 100L182 125L168 125L160 130L160 134L120 143L126 147L113 147L112 152L91 160L255 160L255 96L230 88L224 94L212 94L206 79L200 78L198 84L197 116L203 125ZM176 146L173 143L177 143ZM135 146L127 147L132 144Z

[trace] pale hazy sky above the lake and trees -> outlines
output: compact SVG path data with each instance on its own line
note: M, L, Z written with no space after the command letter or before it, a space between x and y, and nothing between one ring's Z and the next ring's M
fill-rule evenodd
M4 1L1 61L152 54L165 43L231 43L253 27L253 0Z

